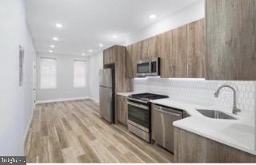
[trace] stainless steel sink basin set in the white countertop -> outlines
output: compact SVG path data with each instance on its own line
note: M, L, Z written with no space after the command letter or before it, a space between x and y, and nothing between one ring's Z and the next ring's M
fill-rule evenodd
M197 109L198 112L200 112L203 116L210 117L213 119L222 119L222 120L237 120L234 117L220 111L215 110L203 110L203 109Z

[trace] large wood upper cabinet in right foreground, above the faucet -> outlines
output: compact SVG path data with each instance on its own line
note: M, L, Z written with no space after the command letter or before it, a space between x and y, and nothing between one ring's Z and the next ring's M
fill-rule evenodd
M256 80L256 0L206 0L206 79Z

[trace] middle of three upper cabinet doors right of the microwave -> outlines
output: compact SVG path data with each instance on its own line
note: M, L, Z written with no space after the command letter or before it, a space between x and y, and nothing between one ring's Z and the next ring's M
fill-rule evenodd
M170 77L187 77L186 26L173 30L173 54L170 57Z

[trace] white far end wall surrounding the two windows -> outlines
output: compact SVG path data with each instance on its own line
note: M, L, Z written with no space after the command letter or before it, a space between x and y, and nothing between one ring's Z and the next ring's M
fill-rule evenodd
M54 57L57 59L57 88L40 89L40 58ZM86 61L86 88L74 88L74 60ZM89 96L89 63L86 57L62 55L54 53L38 53L37 57L37 102L50 102L56 100L72 100Z

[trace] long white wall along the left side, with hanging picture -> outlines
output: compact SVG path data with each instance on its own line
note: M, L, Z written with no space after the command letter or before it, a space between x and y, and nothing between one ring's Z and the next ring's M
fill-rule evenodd
M0 1L0 155L23 155L33 113L34 46L26 26L25 1ZM25 49L24 84L18 84L19 45Z

